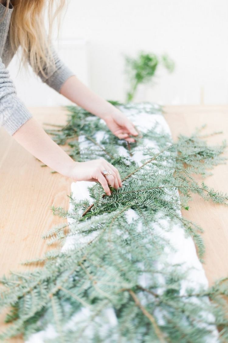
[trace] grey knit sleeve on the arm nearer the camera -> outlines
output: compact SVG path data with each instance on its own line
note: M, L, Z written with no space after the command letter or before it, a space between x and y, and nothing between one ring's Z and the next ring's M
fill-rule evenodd
M0 126L13 135L31 117L0 58Z

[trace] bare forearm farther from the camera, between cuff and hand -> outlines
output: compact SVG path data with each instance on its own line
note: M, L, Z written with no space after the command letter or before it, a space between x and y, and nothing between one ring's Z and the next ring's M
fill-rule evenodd
M64 82L60 89L60 94L103 119L110 114L119 112L115 106L91 91L76 76L71 76Z

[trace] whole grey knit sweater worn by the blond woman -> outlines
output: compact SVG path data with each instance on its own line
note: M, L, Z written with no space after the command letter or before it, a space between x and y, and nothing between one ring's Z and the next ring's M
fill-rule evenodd
M5 10L5 6L0 3L0 19ZM0 126L3 126L11 135L31 118L24 103L17 97L15 86L6 69L14 55L9 40L12 12L13 6L10 5L3 21L0 22ZM38 75L43 82L59 92L62 84L74 73L59 59L53 47L52 51L57 69L49 70L47 78L44 78L40 72Z

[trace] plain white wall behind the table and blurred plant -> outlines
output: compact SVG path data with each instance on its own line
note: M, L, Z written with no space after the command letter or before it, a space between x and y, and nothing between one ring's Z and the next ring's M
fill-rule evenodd
M124 100L123 54L142 49L176 62L173 74L158 71L145 100L228 103L227 0L70 0L61 38L87 40L88 84L107 99Z

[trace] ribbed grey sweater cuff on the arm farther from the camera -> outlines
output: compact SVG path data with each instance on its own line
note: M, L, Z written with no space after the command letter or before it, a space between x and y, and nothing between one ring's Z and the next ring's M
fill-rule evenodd
M70 76L74 75L75 74L72 72L72 70L70 70L67 66L62 65L44 82L59 93L65 81L67 81Z

